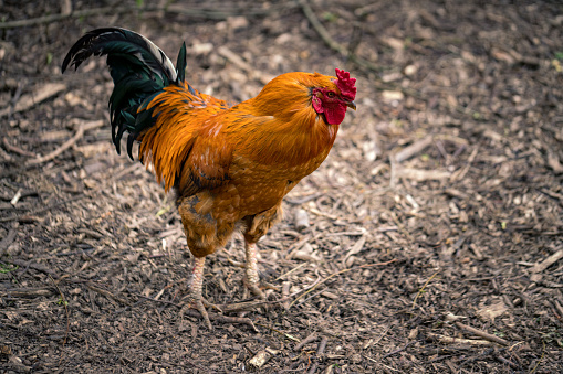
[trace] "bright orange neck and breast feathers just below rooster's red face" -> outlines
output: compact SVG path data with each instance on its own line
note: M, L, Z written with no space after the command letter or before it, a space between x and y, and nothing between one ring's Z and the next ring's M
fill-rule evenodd
M321 156L324 160L338 125L327 125L314 110L311 94L313 87L331 84L329 78L316 73L286 73L257 97L233 107L241 114L237 130L232 129L240 152L264 164L295 165Z

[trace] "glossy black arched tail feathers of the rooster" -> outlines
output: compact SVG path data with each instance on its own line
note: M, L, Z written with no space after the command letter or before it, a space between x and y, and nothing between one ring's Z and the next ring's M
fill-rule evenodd
M103 28L87 32L71 47L62 64L79 66L92 55L107 55L114 89L110 97L112 140L117 152L125 131L129 132L127 153L133 159L133 142L153 125L150 110L137 114L139 106L154 98L164 87L183 83L186 77L186 44L178 54L176 68L166 54L145 36L126 29ZM191 94L195 90L188 85Z

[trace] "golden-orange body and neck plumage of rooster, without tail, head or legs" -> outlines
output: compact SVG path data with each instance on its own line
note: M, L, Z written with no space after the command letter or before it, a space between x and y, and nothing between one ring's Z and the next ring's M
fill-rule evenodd
M167 190L178 191L195 256L222 247L239 223L258 239L281 217L283 196L324 161L338 125L315 113L310 89L334 85L331 78L284 74L231 108L170 86L147 106L158 117L138 138L140 158Z

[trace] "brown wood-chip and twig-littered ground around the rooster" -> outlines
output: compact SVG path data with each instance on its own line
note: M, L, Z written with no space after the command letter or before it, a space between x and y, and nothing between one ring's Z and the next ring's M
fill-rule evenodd
M514 2L0 0L0 372L562 372L563 6ZM190 83L233 103L357 77L259 243L268 307L180 318L174 199L113 149L104 61L61 75L107 25L173 61L186 41ZM209 256L208 300L250 298L241 247Z

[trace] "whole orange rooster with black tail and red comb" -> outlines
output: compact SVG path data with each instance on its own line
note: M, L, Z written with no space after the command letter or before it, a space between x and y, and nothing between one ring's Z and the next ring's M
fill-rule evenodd
M154 167L166 191L176 191L188 248L194 255L188 306L211 329L201 296L206 256L241 232L246 285L261 299L257 242L282 216L281 202L327 157L346 108L356 109L355 78L336 68L282 74L234 106L202 94L185 78L186 43L176 68L143 35L96 29L66 54L62 72L90 56L107 55L114 82L110 97L112 140L117 153L128 132L127 153ZM217 307L216 307L217 308Z

